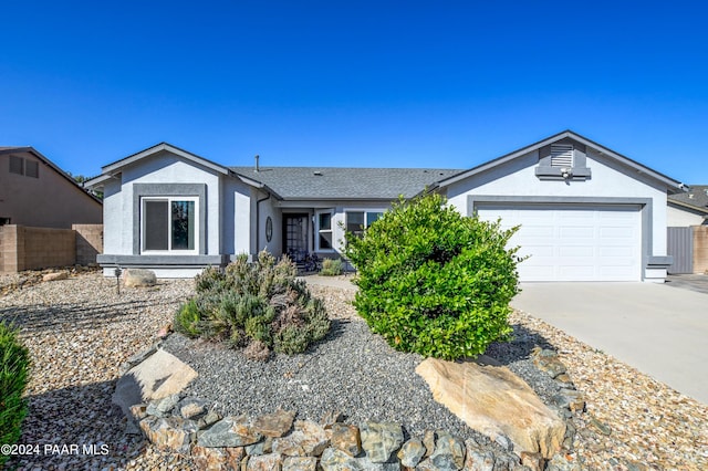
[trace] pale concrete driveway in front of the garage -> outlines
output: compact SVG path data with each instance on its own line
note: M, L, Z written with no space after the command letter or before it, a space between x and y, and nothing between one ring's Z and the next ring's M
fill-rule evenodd
M654 283L524 283L512 306L708 404L708 294Z

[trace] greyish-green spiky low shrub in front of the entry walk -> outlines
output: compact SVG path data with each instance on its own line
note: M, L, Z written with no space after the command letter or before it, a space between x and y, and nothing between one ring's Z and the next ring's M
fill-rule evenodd
M253 263L241 255L226 270L208 268L195 278L197 295L175 315L175 329L250 347L254 358L267 358L264 348L304 352L327 334L330 320L296 275L290 260L277 263L268 252Z

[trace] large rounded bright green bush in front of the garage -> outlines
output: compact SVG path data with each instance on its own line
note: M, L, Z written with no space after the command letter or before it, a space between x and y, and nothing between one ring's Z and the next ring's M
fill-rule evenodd
M399 350L456 359L511 333L518 292L514 229L462 217L439 195L394 202L362 237L346 234L354 305Z

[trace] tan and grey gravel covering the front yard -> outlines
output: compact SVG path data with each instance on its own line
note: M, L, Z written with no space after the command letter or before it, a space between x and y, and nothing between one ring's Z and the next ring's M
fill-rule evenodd
M189 460L160 452L142 437L125 436L125 419L112 406L111 395L122 363L149 346L157 331L171 321L178 304L192 293L191 280L160 281L153 289L122 290L118 295L115 280L104 279L95 272L73 274L69 280L51 283L25 283L21 289L21 283L17 283L18 275L13 276L0 276L0 287L9 286L0 294L0 317L18 323L34 363L28 389L30 412L20 442L40 444L42 448L40 454L13 458L10 465L28 470L190 469ZM200 368L197 357L204 355L207 358L207 353L211 352L215 365L225 367L219 376L225 381L249 385L250 397L270 395L282 400L282 406L293 404L298 409L303 405L301 414L312 414L315 419L321 410L336 408L353 420L358 420L358 415L400 423L409 420L408 427L416 433L418 428L425 427L426 420L439 420L430 423L440 423L461 436L473 433L465 430L457 419L445 417L447 412L440 411L435 402L429 402L429 398L425 397L417 376L409 376L409 368L415 363L413 355L392 354L379 338L367 333L365 324L355 318L348 304L352 290L312 285L312 291L325 300L327 310L335 318L332 341L315 346L310 357L296 356L266 364L274 366L274 371L270 374L279 376L278 384L287 385L279 391L269 388L268 381L259 380L264 378L257 375L262 373L258 369L263 367L262 364L252 366L250 370L237 371L232 364L223 359L236 355L231 350L210 344L186 348L187 341L177 336L170 337L168 348L178 355L194 357L197 370ZM577 388L586 394L589 411L586 419L579 423L575 442L575 456L584 461L584 468L623 469L617 463L632 460L649 469L708 469L706 405L681 396L524 313L516 313L511 322L519 342L512 346L493 346L489 352L491 356L529 380L543 397L548 385L542 379L533 379L535 376L530 371L533 368L527 356L531 344L552 346L560 352ZM327 348L347 345L345 341L354 345L345 354L343 363L321 363L326 362L322 358ZM366 355L373 353L376 353L379 363L361 363L362 358L371 359ZM386 381L382 378L386 377L388 369L408 377L396 378L395 381L389 378ZM340 399L321 393L324 387L316 381L332 377L337 370L344 373L342 377L351 378L346 384L333 384L331 387L336 388L343 400L350 401L347 404L351 406L347 407L356 410L344 410L344 407L337 407L342 404ZM200 373L205 376L210 374L208 369ZM367 396L371 378L378 384L372 386L375 394ZM198 384L199 380L192 387L198 388ZM392 389L385 389L387 384ZM356 387L360 388L358 394L354 389ZM217 396L225 397L225 394L217 393ZM389 414L378 402L371 405L369 400L357 399L383 395L393 397L392 404L402 407L396 409L402 412ZM415 417L407 419L406 406L414 402L414 397L415 402L423 406ZM216 400L223 410L239 407L219 397L208 399ZM312 405L308 406L311 409L304 406L304 400L312 400ZM251 414L256 415L260 412L259 408L270 408L271 405L261 401L250 407L254 409ZM366 414L366 410L371 412ZM397 414L404 417L393 417ZM598 433L592 425L593 420L608 426L611 433ZM71 450L61 448L50 448L51 452L45 453L45 444L94 444L97 453L72 454ZM106 446L106 454L102 454L105 449L102 446Z

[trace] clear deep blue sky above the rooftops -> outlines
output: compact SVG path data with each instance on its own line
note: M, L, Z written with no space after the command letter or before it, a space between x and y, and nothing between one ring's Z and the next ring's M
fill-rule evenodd
M225 165L471 168L573 129L708 184L699 1L2 2L0 146L86 176L159 142Z

